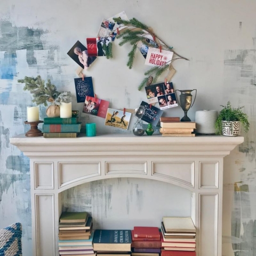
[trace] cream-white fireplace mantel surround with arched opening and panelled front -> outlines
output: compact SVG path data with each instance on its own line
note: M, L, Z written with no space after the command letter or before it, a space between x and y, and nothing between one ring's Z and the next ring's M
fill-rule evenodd
M30 158L33 255L59 255L62 191L100 179L133 177L189 189L196 255L221 256L223 158L243 140L132 134L11 138Z

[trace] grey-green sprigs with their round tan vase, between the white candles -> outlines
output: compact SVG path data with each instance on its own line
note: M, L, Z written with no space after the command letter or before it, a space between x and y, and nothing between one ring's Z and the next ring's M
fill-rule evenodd
M43 104L44 106L48 105L47 102L51 102L51 105L46 109L48 117L59 117L61 102L67 103L71 99L70 92L58 92L50 79L45 84L41 76L36 78L25 76L24 79L19 79L18 82L25 83L23 90L27 90L33 95L34 99L32 102L35 102L37 105Z

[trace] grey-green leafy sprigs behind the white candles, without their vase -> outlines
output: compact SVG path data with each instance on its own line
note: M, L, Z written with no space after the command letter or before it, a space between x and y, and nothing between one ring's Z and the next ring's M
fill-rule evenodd
M60 92L57 91L57 88L54 84L51 83L50 79L45 81L41 76L29 77L25 76L23 79L18 79L18 83L25 83L23 87L24 91L29 91L32 96L32 102L35 102L37 105L43 104L47 106L47 101L54 101L60 95Z

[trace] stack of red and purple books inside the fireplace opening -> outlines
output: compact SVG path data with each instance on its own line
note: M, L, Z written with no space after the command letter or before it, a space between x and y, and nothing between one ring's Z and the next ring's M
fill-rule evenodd
M157 227L134 227L132 230L132 256L159 256L161 240Z

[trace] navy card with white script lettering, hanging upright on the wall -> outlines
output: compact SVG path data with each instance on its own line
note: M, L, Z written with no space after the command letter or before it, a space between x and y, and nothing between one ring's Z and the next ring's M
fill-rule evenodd
M92 77L74 78L76 88L76 101L84 102L86 96L94 97Z

